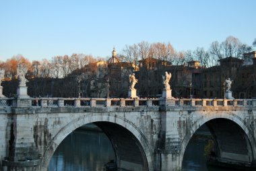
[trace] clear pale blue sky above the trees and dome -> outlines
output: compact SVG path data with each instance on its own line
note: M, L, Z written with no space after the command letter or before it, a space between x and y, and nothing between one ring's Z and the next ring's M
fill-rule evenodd
M208 48L228 36L251 45L255 0L0 0L0 60L119 53L125 44L170 42L176 50Z

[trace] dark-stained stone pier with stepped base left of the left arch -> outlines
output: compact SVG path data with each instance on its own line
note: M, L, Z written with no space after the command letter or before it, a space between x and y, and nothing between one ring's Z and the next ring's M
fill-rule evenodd
M24 109L20 111L24 112ZM7 124L9 125L8 151L7 156L2 160L2 166L7 171L40 170L40 156L34 141L33 121L30 120L30 114L20 114L19 110L13 112L16 114L11 115Z

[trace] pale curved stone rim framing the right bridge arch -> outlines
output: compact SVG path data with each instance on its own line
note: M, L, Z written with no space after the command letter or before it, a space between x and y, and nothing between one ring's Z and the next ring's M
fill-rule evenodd
M189 143L189 140L195 133L195 131L197 131L197 129L199 129L201 125L216 119L226 119L227 121L234 123L234 125L236 125L238 129L240 129L241 131L243 131L243 133L245 133L245 136L247 136L247 139L248 139L248 142L246 143L247 145L249 145L249 148L251 149L251 153L253 157L251 160L255 160L256 158L255 148L254 148L255 137L253 136L253 130L251 130L248 127L248 125L246 125L246 123L243 121L241 117L239 117L236 114L232 114L231 112L226 112L226 113L220 113L220 114L208 114L207 116L201 116L201 118L197 119L197 121L193 123L193 126L189 128L190 130L187 131L181 143L181 164L183 162L183 156L185 154L186 147Z

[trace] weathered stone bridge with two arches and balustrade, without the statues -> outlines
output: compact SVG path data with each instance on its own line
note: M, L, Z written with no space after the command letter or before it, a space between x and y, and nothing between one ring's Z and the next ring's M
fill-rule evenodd
M251 164L255 119L256 100L0 98L0 170L47 170L61 141L88 123L108 136L121 169L181 170L202 125L218 158Z

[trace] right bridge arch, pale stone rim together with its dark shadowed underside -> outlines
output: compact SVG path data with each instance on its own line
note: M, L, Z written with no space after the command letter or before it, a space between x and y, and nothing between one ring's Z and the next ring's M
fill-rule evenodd
M183 163L183 157L189 140L202 125L208 127L214 137L214 143L217 143L218 151L216 152L218 158L242 162L252 162L255 160L255 137L253 136L253 130L249 129L249 126L245 124L242 118L229 112L220 115L210 114L202 116L193 123L192 127L189 127L181 143L181 164ZM225 139L226 141L223 141ZM237 147L241 148L238 149Z

